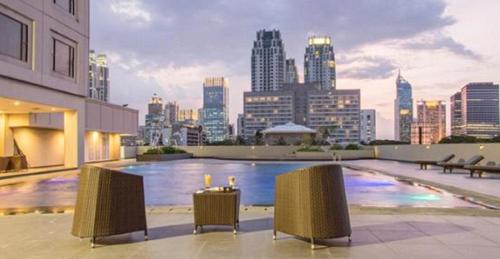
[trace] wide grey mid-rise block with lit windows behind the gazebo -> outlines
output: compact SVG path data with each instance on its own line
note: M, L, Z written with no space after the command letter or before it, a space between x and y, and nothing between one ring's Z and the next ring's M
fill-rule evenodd
M244 93L244 136L288 122L326 128L337 143L360 141L360 91L324 90L319 83L286 84L281 91Z

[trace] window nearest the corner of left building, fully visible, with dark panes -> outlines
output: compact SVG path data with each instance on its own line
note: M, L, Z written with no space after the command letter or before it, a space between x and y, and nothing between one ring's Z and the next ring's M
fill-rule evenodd
M58 74L75 77L75 48L62 40L52 39L52 70Z

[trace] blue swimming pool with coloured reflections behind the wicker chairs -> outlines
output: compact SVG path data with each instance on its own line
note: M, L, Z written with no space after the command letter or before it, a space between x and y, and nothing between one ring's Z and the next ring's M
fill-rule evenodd
M203 187L203 175L211 174L213 185L227 185L236 176L244 205L270 205L274 201L276 175L318 162L248 162L189 159L137 164L118 169L144 176L149 206L191 205L192 193ZM344 168L347 199L351 205L376 207L480 207L440 192L398 181L386 175ZM0 209L72 206L78 176L0 186Z

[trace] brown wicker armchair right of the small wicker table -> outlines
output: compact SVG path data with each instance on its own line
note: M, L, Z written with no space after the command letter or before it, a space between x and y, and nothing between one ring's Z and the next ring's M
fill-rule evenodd
M311 239L349 237L351 223L340 165L299 169L276 177L276 232Z

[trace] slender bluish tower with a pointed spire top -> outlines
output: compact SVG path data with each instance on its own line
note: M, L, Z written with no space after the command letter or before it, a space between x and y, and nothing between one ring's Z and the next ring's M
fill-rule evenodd
M396 79L396 100L394 100L394 138L411 142L413 122L413 97L411 84L398 73Z

